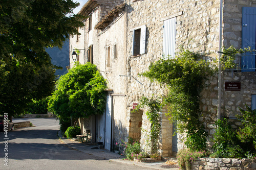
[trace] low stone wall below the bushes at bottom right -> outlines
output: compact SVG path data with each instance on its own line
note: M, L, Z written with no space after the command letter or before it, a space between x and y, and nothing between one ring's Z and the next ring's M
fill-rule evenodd
M199 158L192 162L191 169L256 170L256 159Z

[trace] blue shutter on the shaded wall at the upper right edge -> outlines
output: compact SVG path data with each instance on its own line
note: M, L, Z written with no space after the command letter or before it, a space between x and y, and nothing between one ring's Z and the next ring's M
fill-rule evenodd
M256 46L256 8L243 7L242 12L242 48L251 47L255 50ZM249 55L241 57L242 71L255 71L255 56ZM255 53L253 53L255 54Z

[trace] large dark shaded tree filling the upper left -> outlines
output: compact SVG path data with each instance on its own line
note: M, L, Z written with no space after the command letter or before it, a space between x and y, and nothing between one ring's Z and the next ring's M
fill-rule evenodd
M31 99L54 89L54 67L46 47L61 47L82 27L81 17L67 15L71 0L0 0L0 114L21 114Z

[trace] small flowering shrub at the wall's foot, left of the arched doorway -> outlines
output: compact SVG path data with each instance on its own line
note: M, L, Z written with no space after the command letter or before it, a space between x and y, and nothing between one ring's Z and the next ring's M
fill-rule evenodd
M125 142L123 140L121 143L121 147L124 148L123 154L126 159L133 160L138 154L140 154L140 141L139 140L132 140L129 138L130 142Z

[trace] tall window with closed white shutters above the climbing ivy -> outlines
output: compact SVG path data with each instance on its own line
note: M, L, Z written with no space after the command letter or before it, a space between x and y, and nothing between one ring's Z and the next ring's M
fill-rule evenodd
M163 56L175 58L176 17L163 21Z

